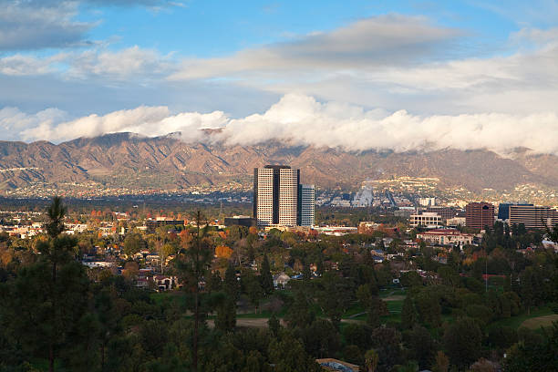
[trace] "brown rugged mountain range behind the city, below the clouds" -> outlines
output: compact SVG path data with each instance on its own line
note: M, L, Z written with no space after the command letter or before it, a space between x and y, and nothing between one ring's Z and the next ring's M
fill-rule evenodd
M186 143L177 135L148 138L113 133L60 144L0 141L0 190L34 184L97 182L106 187L185 189L249 188L254 167L289 164L303 182L354 190L362 181L392 176L436 177L444 187L511 190L532 184L558 189L558 157L515 150L353 152L280 142L251 146Z

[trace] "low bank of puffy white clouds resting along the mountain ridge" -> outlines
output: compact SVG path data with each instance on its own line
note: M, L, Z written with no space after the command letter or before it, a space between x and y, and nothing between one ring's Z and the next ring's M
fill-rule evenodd
M180 112L141 106L106 115L68 119L66 112L47 109L26 114L0 109L0 128L24 140L55 142L94 137L111 132L134 132L154 137L181 132L185 142L253 145L280 140L294 145L343 150L493 150L506 154L517 148L558 154L558 115L481 113L418 116L406 110L336 102L320 102L301 94L287 94L263 113L232 118L222 111ZM211 134L201 129L213 130Z

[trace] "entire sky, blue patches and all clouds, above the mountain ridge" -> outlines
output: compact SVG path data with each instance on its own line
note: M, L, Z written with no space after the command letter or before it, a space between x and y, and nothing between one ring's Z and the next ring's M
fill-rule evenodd
M558 1L0 0L0 140L118 131L558 154Z

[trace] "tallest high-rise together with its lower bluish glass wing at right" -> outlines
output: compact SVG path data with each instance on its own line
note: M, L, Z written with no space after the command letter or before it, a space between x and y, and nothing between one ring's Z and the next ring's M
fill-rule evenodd
M301 185L300 171L286 165L255 168L253 217L258 226L314 226L314 185Z

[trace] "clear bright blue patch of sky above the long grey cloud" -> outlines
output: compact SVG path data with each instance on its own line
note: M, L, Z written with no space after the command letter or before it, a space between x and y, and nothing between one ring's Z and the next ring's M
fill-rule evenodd
M81 5L77 19L100 22L91 29L92 40L113 40L119 47L156 48L179 56L219 57L264 44L288 41L294 36L333 30L358 19L398 13L424 15L442 26L459 27L471 40L505 42L522 24L540 19L513 19L502 14L501 2L428 1L184 1L156 6ZM516 4L521 4L517 2ZM518 9L518 13L521 11Z

